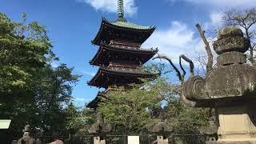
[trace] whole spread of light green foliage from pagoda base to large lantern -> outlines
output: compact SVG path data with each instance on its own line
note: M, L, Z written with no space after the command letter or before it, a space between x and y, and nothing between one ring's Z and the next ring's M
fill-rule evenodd
M115 131L126 134L148 133L160 122L161 110L177 134L198 133L198 127L206 125L206 111L184 106L179 102L179 90L180 86L167 78L156 78L131 90L108 94L98 110Z

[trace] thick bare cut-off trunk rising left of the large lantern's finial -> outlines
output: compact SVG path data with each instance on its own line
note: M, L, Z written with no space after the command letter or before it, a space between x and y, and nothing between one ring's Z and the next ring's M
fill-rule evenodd
M208 56L208 62L207 62L207 65L206 65L206 73L208 74L209 71L212 70L212 68L213 68L213 63L214 63L213 59L214 58L213 58L213 54L211 53L211 50L210 50L209 42L206 39L205 32L202 30L202 28L199 24L197 24L196 26L198 28L198 31L199 31L200 35L201 35L202 41L205 43L206 53L207 53L207 56Z

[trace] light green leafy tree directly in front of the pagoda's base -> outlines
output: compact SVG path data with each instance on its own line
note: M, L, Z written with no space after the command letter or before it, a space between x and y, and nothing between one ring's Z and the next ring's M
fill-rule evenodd
M131 90L114 91L108 94L98 110L116 131L126 134L143 133L156 119L151 118L151 110L161 105L158 82L145 86L134 86ZM139 88L141 87L141 88Z

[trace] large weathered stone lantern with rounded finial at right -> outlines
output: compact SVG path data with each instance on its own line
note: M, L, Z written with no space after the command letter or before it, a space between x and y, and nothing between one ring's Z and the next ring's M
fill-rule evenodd
M249 46L242 30L225 27L214 42L217 67L206 78L192 76L184 83L185 98L216 110L218 141L208 143L256 143L256 67L246 64L244 54Z

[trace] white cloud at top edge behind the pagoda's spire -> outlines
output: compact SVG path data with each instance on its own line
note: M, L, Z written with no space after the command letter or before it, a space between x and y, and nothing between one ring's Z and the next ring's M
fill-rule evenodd
M117 0L79 0L86 2L90 6L93 6L95 10L102 10L110 13L117 13L118 1ZM125 14L132 16L137 13L138 8L135 6L135 0L124 0Z

